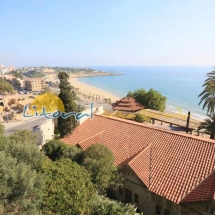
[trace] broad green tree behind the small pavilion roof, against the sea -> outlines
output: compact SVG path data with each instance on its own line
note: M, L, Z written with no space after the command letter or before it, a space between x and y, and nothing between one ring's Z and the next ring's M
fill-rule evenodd
M148 92L143 88L134 92L130 91L127 96L133 97L141 105L152 110L164 111L166 108L167 98L154 89Z

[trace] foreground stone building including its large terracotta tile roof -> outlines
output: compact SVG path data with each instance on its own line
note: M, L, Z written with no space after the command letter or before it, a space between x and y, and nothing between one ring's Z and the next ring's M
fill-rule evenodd
M62 141L107 146L125 179L115 197L144 215L215 214L215 140L95 115Z

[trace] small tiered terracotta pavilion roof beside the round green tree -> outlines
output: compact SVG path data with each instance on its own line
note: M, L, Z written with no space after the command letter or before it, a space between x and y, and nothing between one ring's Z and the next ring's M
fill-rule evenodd
M120 101L112 104L114 110L136 112L145 108L132 97L124 97Z

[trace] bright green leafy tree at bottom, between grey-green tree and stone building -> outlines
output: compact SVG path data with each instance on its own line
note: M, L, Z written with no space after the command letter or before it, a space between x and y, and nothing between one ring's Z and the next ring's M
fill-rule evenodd
M85 215L92 211L95 189L84 167L70 159L44 162L46 175L43 213Z

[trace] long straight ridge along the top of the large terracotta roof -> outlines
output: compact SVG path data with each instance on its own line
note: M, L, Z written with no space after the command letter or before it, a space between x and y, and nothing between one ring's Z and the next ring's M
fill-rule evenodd
M212 140L212 139L201 138L201 137L193 136L193 135L190 135L190 134L182 134L182 133L178 133L178 132L175 132L175 131L168 131L166 129L157 128L157 127L153 127L153 126L146 125L146 124L143 124L143 123L133 122L133 121L130 121L130 120L121 119L121 118L117 118L117 117L113 117L113 116L104 116L104 115L97 115L97 114L94 114L94 115L96 115L98 117L101 117L101 118L108 118L108 119L115 120L115 121L125 122L127 124L133 124L133 125L137 125L137 126L140 126L140 127L153 129L153 130L156 130L156 131L162 131L162 132L169 133L169 134L175 134L177 136L183 136L183 137L202 140L202 141L207 142L207 143L215 144L215 140Z

